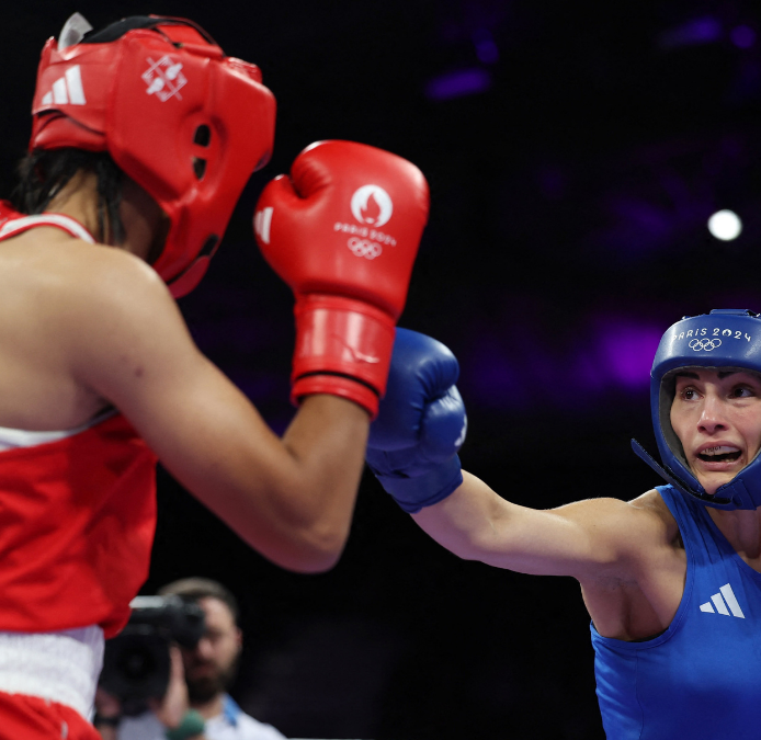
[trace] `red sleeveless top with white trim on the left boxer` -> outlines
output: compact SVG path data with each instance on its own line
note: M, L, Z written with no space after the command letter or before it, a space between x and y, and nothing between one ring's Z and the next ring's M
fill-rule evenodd
M35 226L81 238L66 217L14 228L22 218L0 203L0 240ZM148 577L155 530L156 456L121 414L0 452L0 630L98 624L113 637Z

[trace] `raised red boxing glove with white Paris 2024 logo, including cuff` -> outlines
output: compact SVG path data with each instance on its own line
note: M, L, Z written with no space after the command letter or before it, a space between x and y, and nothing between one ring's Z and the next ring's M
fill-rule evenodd
M414 164L353 141L313 144L264 189L257 240L296 296L294 402L332 394L375 418L428 208Z

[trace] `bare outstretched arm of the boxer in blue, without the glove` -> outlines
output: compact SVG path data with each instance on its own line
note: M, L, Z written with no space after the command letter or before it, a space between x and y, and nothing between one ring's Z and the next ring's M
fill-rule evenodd
M641 553L669 540L648 494L626 503L588 499L536 510L506 501L475 476L413 514L436 542L467 560L537 576L636 574Z

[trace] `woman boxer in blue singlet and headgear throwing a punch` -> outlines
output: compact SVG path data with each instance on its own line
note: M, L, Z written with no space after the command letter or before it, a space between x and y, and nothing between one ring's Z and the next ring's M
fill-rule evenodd
M461 471L457 372L444 345L399 330L367 453L386 491L462 558L579 581L610 740L761 737L761 317L666 332L651 373L663 466L633 444L668 485L628 502L538 511Z

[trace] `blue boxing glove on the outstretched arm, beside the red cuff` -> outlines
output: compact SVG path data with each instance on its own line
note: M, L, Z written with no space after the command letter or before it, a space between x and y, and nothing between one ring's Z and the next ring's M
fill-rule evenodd
M442 501L463 482L457 451L467 418L455 386L458 375L448 348L417 331L396 330L366 459L384 489L411 514Z

